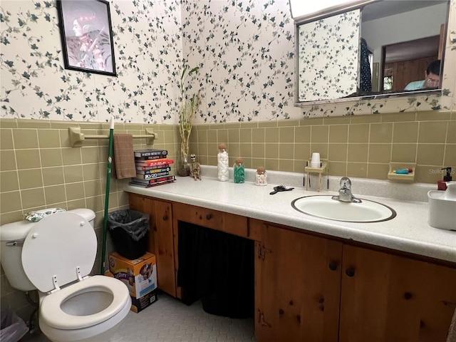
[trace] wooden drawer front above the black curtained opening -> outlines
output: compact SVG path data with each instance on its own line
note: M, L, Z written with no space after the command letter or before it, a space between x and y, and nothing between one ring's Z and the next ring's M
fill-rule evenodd
M181 203L175 203L174 217L178 221L247 237L247 217Z

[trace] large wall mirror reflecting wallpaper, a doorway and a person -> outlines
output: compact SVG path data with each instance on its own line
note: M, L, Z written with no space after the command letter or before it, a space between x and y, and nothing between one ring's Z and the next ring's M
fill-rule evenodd
M450 0L373 0L296 23L296 105L440 95L449 11Z

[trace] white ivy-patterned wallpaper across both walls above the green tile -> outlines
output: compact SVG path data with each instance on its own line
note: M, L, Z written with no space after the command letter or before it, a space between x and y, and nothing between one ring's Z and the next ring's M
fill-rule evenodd
M1 1L0 118L105 122L114 115L116 122L175 125L184 66L200 67L190 86L202 94L197 124L455 107L450 40L441 99L323 100L299 108L287 0L108 2L117 77L64 68L56 1ZM450 20L449 31L455 26Z

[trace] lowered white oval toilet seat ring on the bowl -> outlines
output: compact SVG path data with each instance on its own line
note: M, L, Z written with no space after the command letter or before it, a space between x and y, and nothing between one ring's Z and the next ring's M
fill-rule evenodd
M106 309L88 316L74 316L61 309L61 304L66 299L92 290L112 294L113 301ZM62 330L87 328L115 316L122 311L129 300L130 292L122 281L109 276L90 276L44 297L40 304L40 320L48 326Z

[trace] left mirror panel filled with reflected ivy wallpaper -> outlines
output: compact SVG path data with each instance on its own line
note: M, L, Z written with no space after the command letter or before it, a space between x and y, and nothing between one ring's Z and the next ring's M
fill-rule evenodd
M360 11L299 25L299 100L343 98L356 92Z

